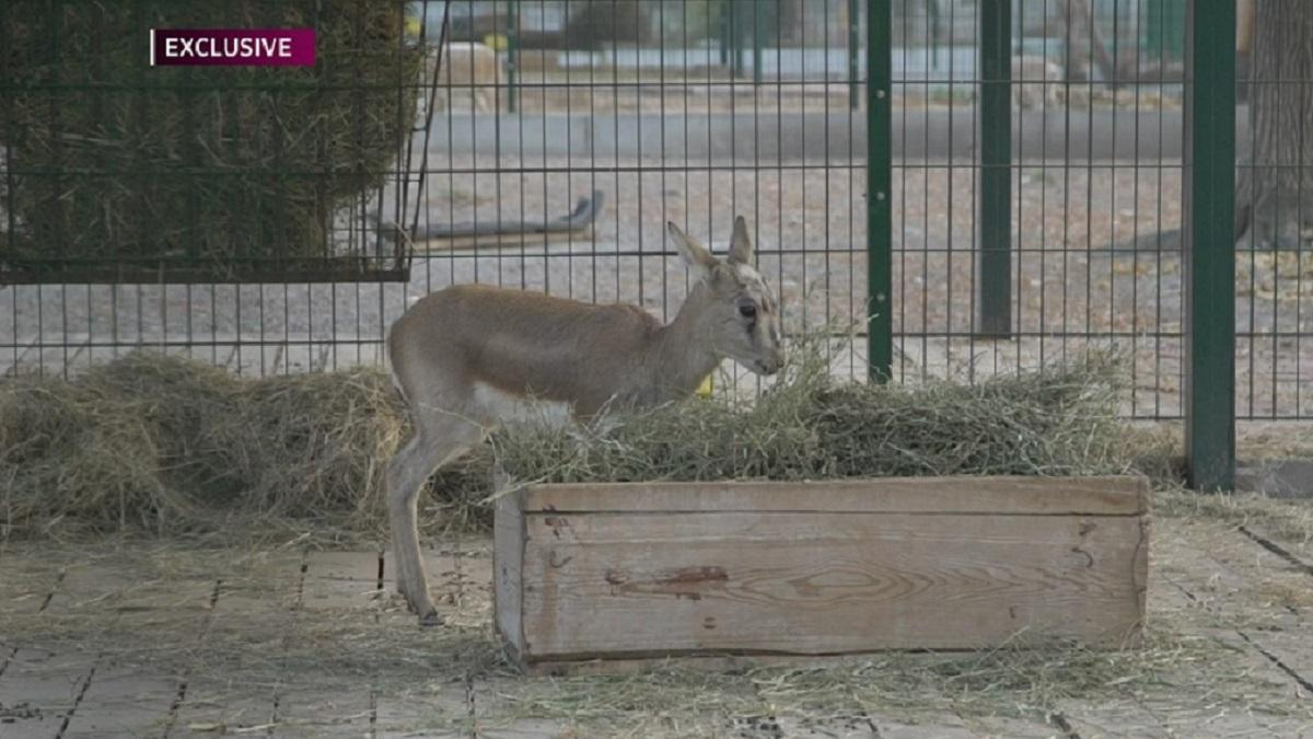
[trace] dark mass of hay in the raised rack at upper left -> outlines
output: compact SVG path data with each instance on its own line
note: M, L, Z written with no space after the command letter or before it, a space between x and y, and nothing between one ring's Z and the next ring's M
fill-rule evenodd
M334 256L414 124L395 0L12 0L0 262ZM150 28L315 28L314 67L150 67ZM58 45L54 43L58 38Z

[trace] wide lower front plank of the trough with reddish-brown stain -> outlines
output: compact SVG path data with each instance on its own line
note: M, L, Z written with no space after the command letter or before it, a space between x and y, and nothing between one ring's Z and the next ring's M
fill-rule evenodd
M1018 631L1119 646L1142 621L1125 517L527 517L530 659L973 650Z

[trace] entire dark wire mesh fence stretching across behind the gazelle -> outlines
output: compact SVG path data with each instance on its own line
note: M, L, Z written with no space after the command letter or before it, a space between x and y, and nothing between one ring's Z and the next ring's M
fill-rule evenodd
M742 213L786 333L834 331L839 373L867 372L867 280L886 260L895 381L1115 347L1127 413L1182 414L1184 0L387 1L429 53L391 184L345 221L361 243L386 241L370 214L412 230L408 281L9 285L0 362L68 372L137 346L257 373L382 362L415 297L463 281L670 318L688 283L664 222L723 250ZM12 36L13 13L0 21ZM868 37L889 39L889 131L867 126ZM1257 60L1260 34L1238 39ZM1308 84L1247 70L1242 150L1258 91L1302 100ZM874 225L893 241L873 263L867 156L882 135L890 216ZM1279 154L1242 170L1302 167ZM1299 185L1262 191L1260 222L1302 224ZM1313 410L1304 231L1287 231L1251 230L1237 252L1241 417Z

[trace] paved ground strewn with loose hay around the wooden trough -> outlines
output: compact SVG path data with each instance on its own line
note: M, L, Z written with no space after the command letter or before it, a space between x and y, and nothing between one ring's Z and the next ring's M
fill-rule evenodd
M488 542L445 539L428 561L448 625L421 631L372 550L5 543L0 736L1313 736L1313 550L1254 522L1154 525L1150 625L1216 656L1109 679L1096 700L1054 689L1020 714L1007 706L1035 701L1035 675L989 688L997 711L953 679L911 706L876 692L859 707L832 696L836 710L776 705L769 672L705 676L687 705L524 677L490 629Z

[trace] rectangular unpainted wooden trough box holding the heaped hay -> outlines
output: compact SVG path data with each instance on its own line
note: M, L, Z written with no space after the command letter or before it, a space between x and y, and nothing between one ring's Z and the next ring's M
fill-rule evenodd
M500 498L496 626L593 659L1092 647L1145 614L1141 477L533 485Z

